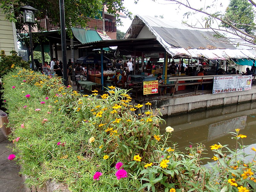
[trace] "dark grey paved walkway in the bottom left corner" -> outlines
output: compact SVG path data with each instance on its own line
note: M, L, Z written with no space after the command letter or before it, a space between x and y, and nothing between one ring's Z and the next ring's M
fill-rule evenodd
M8 160L12 150L6 148L9 142L0 132L0 191L1 192L25 192L20 168L15 161Z

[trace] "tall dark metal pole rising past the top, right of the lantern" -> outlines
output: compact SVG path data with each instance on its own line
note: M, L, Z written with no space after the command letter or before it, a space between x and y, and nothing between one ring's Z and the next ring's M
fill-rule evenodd
M65 86L68 86L64 0L60 0L60 32L61 32L61 50L62 50L63 79L64 79L63 84Z

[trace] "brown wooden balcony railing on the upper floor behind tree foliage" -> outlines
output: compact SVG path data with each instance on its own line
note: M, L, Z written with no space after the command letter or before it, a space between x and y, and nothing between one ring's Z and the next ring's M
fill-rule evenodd
M103 31L103 20L99 20L99 19L92 19L92 18L87 18L87 29L94 29L94 30L100 30ZM42 19L42 20L37 20L38 25L40 26L40 28L44 28L44 30L42 29L38 29L38 31L51 31L51 30L55 30L60 28L60 24L57 25L53 25L51 23L50 19ZM77 28L81 28L80 25L76 25Z

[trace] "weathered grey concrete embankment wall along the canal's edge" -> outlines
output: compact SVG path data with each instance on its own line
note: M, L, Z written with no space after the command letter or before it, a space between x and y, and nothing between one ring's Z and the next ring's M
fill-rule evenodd
M166 98L161 100L149 101L151 108L161 108L160 112L163 116L177 113L188 113L195 110L221 107L226 105L237 104L241 102L248 102L256 100L256 86L249 91L228 92L218 94L200 94L195 96ZM142 111L147 110L147 105L144 105ZM164 109L163 109L164 107Z

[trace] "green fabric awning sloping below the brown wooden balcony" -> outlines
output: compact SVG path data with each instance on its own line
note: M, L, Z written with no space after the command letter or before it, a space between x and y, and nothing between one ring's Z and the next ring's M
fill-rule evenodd
M102 40L97 31L72 28L72 32L77 40L81 43L90 43Z

